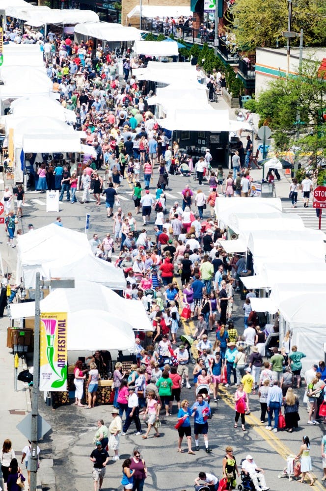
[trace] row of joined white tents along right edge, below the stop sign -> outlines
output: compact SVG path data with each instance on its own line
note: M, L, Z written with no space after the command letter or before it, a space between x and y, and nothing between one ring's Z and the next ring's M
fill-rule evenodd
M287 330L306 358L303 368L324 359L326 343L326 234L305 228L299 215L282 213L279 198L217 198L221 227L235 240L223 241L228 253L253 255L246 288L260 290L250 299L257 312L280 314L280 343Z

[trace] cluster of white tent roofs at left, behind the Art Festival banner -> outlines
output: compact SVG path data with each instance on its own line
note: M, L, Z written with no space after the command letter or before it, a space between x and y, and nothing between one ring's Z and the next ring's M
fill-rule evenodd
M52 223L17 238L16 277L27 290L41 279L74 278L74 289L55 289L41 300L41 312L68 312L68 350L135 349L135 330L151 330L144 305L112 290L126 286L123 271L96 258L85 234ZM121 313L123 312L123 316ZM34 317L35 303L11 305L13 320Z

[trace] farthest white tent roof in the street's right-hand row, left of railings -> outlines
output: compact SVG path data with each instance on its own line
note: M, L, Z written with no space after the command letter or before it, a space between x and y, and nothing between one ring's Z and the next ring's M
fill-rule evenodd
M137 39L141 39L140 31L136 27L123 27L121 24L108 22L77 24L75 26L75 33L108 42L136 41Z

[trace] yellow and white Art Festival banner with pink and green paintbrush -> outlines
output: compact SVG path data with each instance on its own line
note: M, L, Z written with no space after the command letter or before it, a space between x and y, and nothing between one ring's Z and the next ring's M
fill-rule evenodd
M41 313L40 390L67 390L67 312Z

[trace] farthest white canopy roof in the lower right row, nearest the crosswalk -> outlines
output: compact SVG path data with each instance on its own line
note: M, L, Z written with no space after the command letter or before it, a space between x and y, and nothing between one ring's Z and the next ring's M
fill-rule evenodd
M231 200L218 197L215 201L215 213L223 226L228 226L229 217L238 213L259 213L273 215L282 211L280 198L237 198Z

